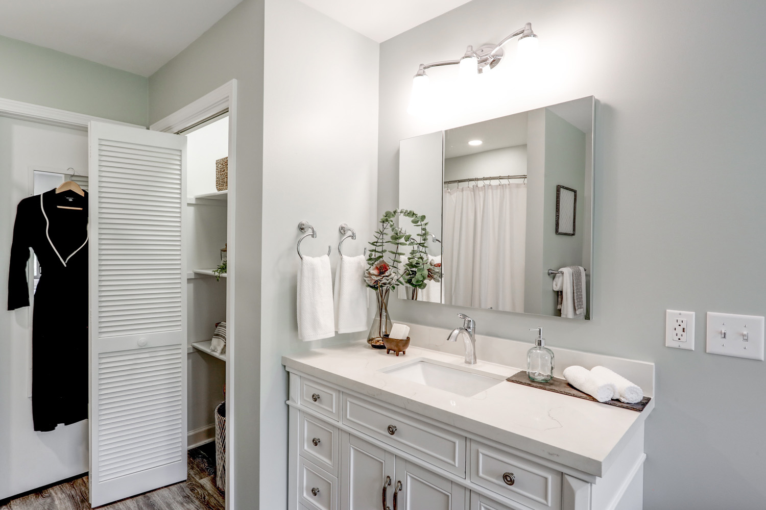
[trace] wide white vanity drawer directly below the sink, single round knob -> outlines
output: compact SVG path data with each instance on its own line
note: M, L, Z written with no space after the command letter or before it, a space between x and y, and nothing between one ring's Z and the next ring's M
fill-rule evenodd
M450 473L466 476L464 436L345 394L342 422Z

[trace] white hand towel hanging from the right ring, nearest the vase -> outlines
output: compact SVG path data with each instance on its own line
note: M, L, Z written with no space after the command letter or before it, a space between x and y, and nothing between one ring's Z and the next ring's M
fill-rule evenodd
M367 258L364 255L341 255L335 284L335 328L338 333L364 331L369 327L366 269Z

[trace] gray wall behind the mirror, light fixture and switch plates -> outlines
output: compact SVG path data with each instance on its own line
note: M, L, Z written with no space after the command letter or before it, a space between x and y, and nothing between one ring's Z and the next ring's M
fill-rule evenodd
M763 508L766 363L705 353L705 312L766 314L766 4L474 0L381 44L378 210L396 203L398 143L583 96L597 109L591 321L471 310L480 333L656 363L645 508ZM496 68L492 101L406 113L419 63L531 21L535 75ZM431 73L449 80L450 68ZM457 72L457 70L454 70ZM447 114L450 115L447 115ZM529 155L531 157L531 154ZM664 346L665 310L696 311L696 350ZM394 320L457 325L456 307L399 300Z

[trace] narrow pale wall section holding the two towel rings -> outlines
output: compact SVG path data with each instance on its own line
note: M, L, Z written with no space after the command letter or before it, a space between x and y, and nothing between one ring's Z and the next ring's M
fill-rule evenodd
M300 52L286 65L285 44ZM342 57L337 57L342 51ZM316 227L306 255L356 229L347 255L372 239L378 174L378 44L297 0L267 0L264 62L264 234L261 288L260 508L286 508L287 375L281 356L367 332L300 342L296 326L297 229ZM398 141L397 141L398 146ZM394 203L394 207L395 207ZM250 505L247 508L253 508ZM243 507L244 508L244 507Z

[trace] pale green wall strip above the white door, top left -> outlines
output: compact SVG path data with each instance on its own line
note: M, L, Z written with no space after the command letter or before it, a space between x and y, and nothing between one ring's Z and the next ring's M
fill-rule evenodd
M146 125L148 79L0 36L0 98Z

